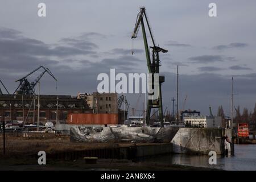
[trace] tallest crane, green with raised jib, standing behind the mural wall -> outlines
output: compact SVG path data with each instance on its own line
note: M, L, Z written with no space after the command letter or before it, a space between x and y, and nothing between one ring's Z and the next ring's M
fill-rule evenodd
M153 46L150 46L149 49L148 49L148 44L147 44L147 35L146 35L143 18L146 19L148 31L150 32L150 36L151 36L151 40L152 40L152 44L153 44ZM152 73L152 89L154 89L154 74L155 73L159 74L159 67L160 67L159 52L165 53L168 51L166 49L155 46L154 38L152 36L151 28L149 26L144 7L141 8L141 11L137 15L137 20L135 23L135 28L133 31L133 35L131 36L131 39L137 38L137 34L138 34L140 26L142 27L142 35L143 35L143 40L144 40L144 48L145 48L145 52L146 52L148 73ZM150 49L152 49L152 61L150 59ZM162 90L161 90L161 86L162 86L163 82L164 82L164 76L159 76L158 99L147 101L147 115L146 115L147 125L149 125L149 122L150 122L151 109L158 108L161 127L163 127L163 104L162 104ZM151 94L148 94L148 95L150 96Z

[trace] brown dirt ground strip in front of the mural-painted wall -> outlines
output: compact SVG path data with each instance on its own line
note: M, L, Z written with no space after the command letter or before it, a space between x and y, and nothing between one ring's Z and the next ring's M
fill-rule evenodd
M148 145L150 143L137 143L139 145ZM133 143L85 143L70 142L69 137L57 135L28 135L28 137L6 137L6 156L34 155L38 151L45 151L47 154L61 151L82 151L98 148L114 148L134 146ZM3 137L0 135L0 151L3 151ZM2 156L2 152L0 157Z

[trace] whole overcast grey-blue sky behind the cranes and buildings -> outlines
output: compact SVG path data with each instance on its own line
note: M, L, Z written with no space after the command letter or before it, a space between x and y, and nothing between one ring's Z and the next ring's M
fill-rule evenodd
M46 17L38 16L40 2L46 3ZM217 17L208 15L210 2L217 4ZM209 114L209 105L214 113L223 105L229 115L233 76L235 105L253 109L254 0L1 1L0 79L14 92L18 86L15 80L44 65L58 81L44 76L43 94L76 96L77 92L95 92L98 73L109 73L110 68L122 73L146 73L141 31L138 39L130 38L141 6L146 7L156 44L168 49L160 55L160 71L166 76L164 108L172 109L178 64L180 107L187 95L185 109ZM29 77L30 81L38 75ZM128 94L127 98L134 107L138 94Z

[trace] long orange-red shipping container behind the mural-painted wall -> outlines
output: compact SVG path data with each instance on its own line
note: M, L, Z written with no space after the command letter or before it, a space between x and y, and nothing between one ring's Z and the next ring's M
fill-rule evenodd
M68 114L68 124L72 125L117 125L118 114Z

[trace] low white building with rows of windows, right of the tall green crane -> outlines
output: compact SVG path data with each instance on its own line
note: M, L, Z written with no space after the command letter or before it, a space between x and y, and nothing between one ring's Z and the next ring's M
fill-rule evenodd
M184 123L200 127L221 127L221 117L208 117L206 115L184 117Z

